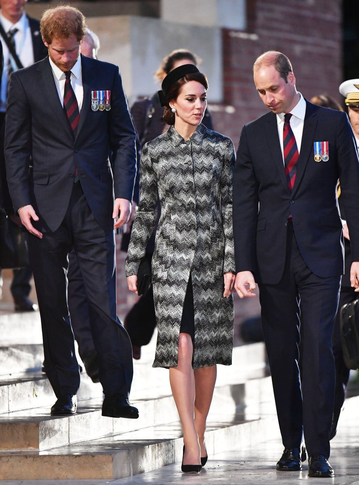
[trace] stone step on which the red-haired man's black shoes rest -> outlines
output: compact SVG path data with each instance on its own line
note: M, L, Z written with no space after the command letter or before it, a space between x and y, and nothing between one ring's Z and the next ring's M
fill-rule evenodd
M213 409L227 410L228 416L241 415L243 420L258 419L270 394L268 378L253 379L240 384L216 386ZM41 407L0 415L0 450L46 450L78 441L119 434L173 420L177 415L172 396L143 398L134 404L139 409L138 420L123 420L101 416L101 399L83 400L78 413L67 417L49 416L49 407Z

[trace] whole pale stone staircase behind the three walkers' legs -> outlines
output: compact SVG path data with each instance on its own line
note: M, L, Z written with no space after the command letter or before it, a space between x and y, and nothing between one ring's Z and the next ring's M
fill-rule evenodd
M114 480L179 462L182 439L168 371L151 367L155 340L134 362L138 420L101 416L102 388L83 372L78 413L51 417L36 313L0 314L0 480ZM235 347L218 366L208 453L248 447L277 433L263 344Z

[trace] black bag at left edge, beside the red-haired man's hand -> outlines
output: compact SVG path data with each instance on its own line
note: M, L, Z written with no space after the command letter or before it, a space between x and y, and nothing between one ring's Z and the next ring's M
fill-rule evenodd
M28 266L27 233L0 210L0 268Z

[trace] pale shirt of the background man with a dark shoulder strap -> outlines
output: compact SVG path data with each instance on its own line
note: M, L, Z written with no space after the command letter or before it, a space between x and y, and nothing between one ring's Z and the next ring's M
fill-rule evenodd
M22 14L20 20L16 22L16 24L13 24L12 22L10 22L10 20L5 18L0 11L0 22L5 32L9 32L13 29L17 29L17 32L14 35L16 54L18 55L21 61L21 64L24 67L28 67L29 65L32 65L34 63L33 39L31 36L31 29L30 29L30 24L27 16L25 14ZM38 33L38 35L40 35L40 32ZM0 39L2 44L2 52L4 55L4 70L1 77L1 88L0 88L0 98L1 98L0 111L4 112L6 111L6 105L7 105L7 102L6 102L7 65L9 61L9 49L7 48L7 45L4 39L2 38L2 35L0 35ZM14 71L17 70L17 66L15 62L13 62L13 60L12 60L12 67Z

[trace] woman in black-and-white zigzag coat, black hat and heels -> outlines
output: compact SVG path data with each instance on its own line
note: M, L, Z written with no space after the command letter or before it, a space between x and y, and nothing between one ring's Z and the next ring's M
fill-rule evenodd
M171 71L159 92L168 131L141 154L140 203L126 259L129 289L161 204L152 284L158 325L154 367L169 368L182 424L182 471L207 461L206 419L216 364L231 364L234 256L231 140L201 124L207 78L192 64ZM195 418L194 418L195 417Z

